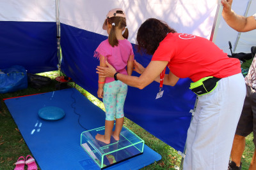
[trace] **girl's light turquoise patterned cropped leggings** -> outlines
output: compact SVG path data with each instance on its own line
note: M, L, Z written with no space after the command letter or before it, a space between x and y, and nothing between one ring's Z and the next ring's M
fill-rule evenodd
M103 103L106 110L106 120L124 117L124 101L127 89L127 84L119 80L104 85Z

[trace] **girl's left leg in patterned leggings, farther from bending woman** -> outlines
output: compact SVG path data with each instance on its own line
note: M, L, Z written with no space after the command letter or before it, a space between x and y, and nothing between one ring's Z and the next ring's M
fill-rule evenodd
M110 143L111 134L114 126L115 112L116 112L116 87L115 81L106 83L104 85L103 103L106 110L105 120L105 134L97 134L95 139L102 141L106 144Z

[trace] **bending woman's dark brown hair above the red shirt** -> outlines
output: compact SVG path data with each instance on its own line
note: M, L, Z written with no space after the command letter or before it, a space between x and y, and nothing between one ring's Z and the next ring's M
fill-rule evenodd
M172 29L166 22L157 20L156 18L149 18L143 24L141 24L137 38L136 44L138 51L143 50L149 55L153 55L159 46L159 43L163 41L169 32L177 32Z

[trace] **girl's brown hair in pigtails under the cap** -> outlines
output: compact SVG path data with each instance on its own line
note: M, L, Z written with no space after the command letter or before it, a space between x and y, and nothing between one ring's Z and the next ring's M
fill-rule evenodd
M112 25L112 28L109 32L108 41L111 46L118 46L118 39L116 39L116 32L115 28L117 29L124 29L126 27L126 20L124 17L111 17L108 18L108 23L112 24L115 23L115 26ZM125 28L123 37L127 39L129 36L129 31Z

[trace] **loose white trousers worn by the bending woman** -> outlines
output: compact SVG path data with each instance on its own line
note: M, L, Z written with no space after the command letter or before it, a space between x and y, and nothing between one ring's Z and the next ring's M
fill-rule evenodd
M241 73L221 78L211 93L198 96L188 129L184 170L227 170L246 87Z

